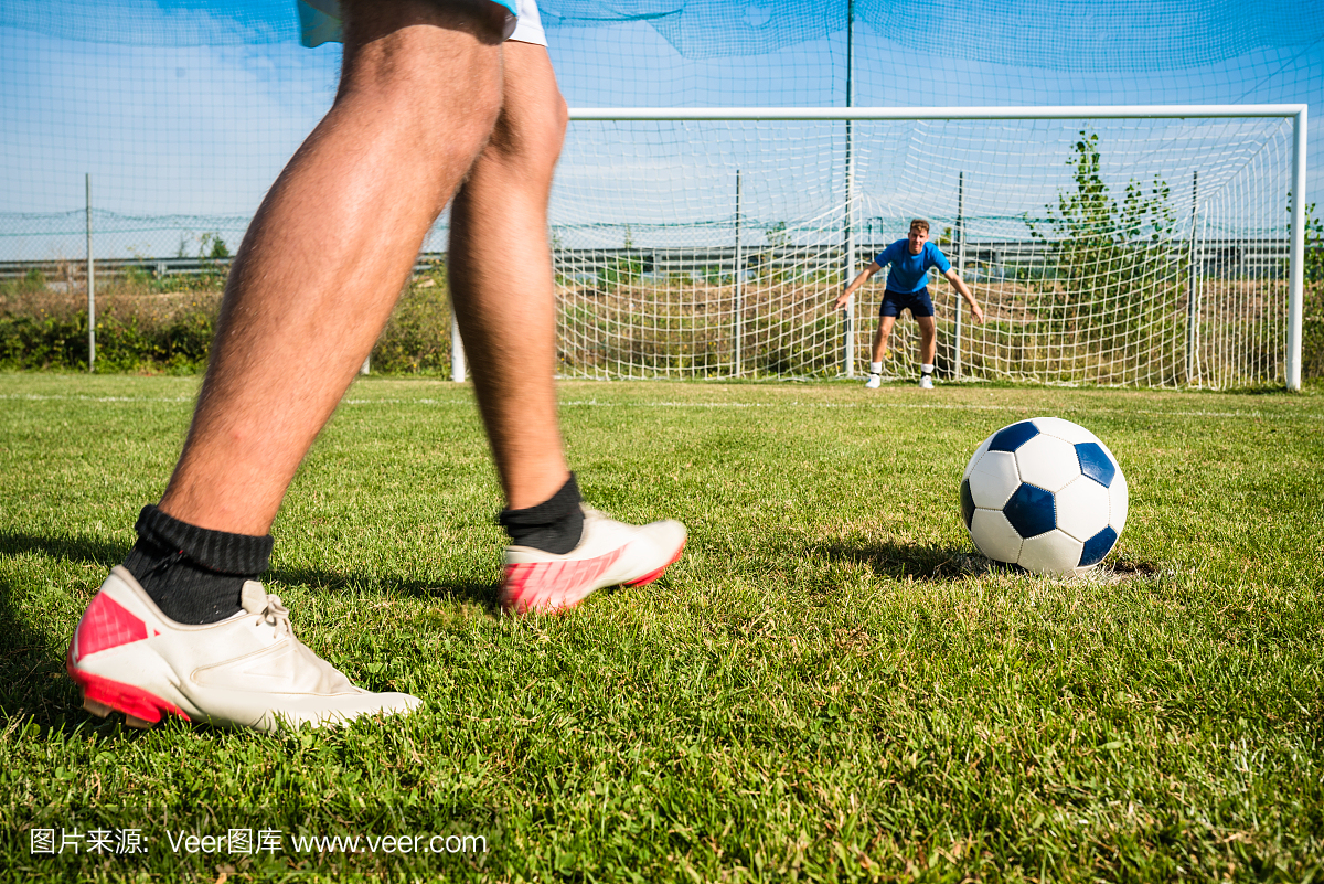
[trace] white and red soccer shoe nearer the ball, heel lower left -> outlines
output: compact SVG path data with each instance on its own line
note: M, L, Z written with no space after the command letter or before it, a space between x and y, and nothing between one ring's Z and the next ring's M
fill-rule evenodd
M568 553L506 548L502 607L516 614L563 611L604 586L653 582L681 557L685 539L685 525L674 519L628 525L584 507L584 533Z

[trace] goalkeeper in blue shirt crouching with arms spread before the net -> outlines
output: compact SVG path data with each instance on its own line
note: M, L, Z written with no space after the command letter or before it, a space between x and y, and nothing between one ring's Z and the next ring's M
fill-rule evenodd
M933 360L937 356L937 323L933 320L933 300L928 296L928 286L925 285L929 267L937 267L956 286L956 290L970 304L974 322L981 326L984 324L984 311L974 300L970 287L952 269L947 255L928 241L928 221L924 218L911 221L910 236L879 251L873 263L865 267L863 273L837 295L835 307L838 310L845 307L855 290L887 265L891 265L892 269L887 271L887 290L883 292L883 304L878 311L878 332L874 333L873 359L869 363L869 380L865 381L865 386L878 389L882 382L887 337L892 333L892 326L896 324L902 311L910 310L919 324L920 333L919 385L920 389L931 390L933 389Z

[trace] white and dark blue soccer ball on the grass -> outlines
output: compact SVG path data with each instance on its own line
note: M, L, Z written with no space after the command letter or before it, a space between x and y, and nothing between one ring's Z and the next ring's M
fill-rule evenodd
M1058 417L984 439L961 476L970 540L994 561L1041 574L1082 573L1127 524L1127 480L1099 437Z

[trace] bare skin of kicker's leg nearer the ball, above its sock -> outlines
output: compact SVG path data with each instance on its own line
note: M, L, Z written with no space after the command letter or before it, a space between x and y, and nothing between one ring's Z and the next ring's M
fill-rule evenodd
M502 112L455 195L450 283L506 506L536 506L569 470L556 417L547 201L567 110L547 49L507 41Z

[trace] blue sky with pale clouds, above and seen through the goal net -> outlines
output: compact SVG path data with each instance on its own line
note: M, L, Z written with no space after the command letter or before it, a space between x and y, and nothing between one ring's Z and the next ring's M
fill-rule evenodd
M845 105L845 3L834 9L808 1L547 0L542 8L573 107ZM858 106L1309 102L1316 116L1324 112L1317 3L1249 17L1241 5L1207 0L1144 7L858 0L855 15ZM0 184L0 259L82 254L86 172L99 210L98 242L109 254L175 254L181 240L188 249L188 237L207 230L221 232L233 247L328 106L338 64L338 45L298 45L293 0L5 3L0 144L9 173ZM745 214L830 228L842 130L800 127L790 138L792 131L740 135L744 144L730 161L744 167ZM1042 128L1004 127L989 136L960 127L945 135L933 127L857 131L858 155L874 163L862 168L859 212L955 212L952 181L960 171L972 184L984 181L990 214L1017 200L1042 205L1064 168L1063 148L1051 140L1061 134ZM679 127L594 147L572 134L557 220L588 222L585 205L596 205L601 221L634 218L643 226L669 214L728 218L733 169L716 163L703 138ZM959 144L960 159L943 157L943 138L969 142ZM998 139L1016 161L980 160ZM1321 146L1324 136L1313 139L1312 169L1324 169ZM1042 171L1022 167L1037 151ZM698 165L682 171L682 156ZM1113 159L1119 181L1149 168L1145 155L1129 148L1119 147ZM1181 191L1185 167L1152 161ZM789 168L802 172L797 177ZM1324 193L1321 175L1312 175L1308 201ZM612 177L633 183L633 192L604 192ZM587 189L571 193L576 183Z

